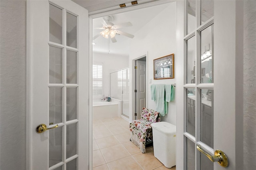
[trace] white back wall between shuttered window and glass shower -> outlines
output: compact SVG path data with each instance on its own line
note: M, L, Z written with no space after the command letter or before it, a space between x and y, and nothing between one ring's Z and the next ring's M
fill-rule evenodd
M129 67L129 56L110 53L93 53L93 61L103 63L103 93L110 96L110 73Z

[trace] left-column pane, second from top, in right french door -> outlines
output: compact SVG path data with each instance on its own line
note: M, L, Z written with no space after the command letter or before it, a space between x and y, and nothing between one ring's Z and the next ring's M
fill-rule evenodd
M187 40L187 83L195 82L195 61L196 61L196 38L195 36Z

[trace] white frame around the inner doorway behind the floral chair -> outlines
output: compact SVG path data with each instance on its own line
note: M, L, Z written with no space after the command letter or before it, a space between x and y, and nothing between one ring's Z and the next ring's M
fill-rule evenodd
M136 58L136 59L133 59L132 60L132 64L133 64L133 67L131 68L132 69L132 75L133 75L133 77L132 77L132 81L133 81L133 83L132 83L132 120L135 120L135 119L138 119L138 117L135 117L135 114L134 113L136 113L136 93L134 93L134 91L136 90L136 70L135 70L135 66L136 66L136 61L137 60L139 60L139 59L141 59L141 58L144 58L144 57L146 57L146 82L147 82L147 80L148 80L148 52L147 52L147 54L146 55L142 55L141 57L138 57L138 58ZM148 106L148 86L147 86L147 83L145 84L145 86L146 86L146 106L145 107L147 107ZM137 113L138 114L138 113Z

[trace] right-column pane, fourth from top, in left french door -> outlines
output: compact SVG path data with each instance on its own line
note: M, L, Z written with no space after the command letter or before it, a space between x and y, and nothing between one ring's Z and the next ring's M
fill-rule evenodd
M76 123L67 125L67 152L66 158L70 158L76 154Z

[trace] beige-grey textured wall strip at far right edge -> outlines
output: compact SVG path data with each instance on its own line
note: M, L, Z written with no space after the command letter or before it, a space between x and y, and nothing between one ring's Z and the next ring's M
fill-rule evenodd
M256 1L244 1L244 170L256 167Z

